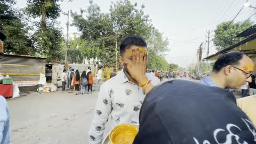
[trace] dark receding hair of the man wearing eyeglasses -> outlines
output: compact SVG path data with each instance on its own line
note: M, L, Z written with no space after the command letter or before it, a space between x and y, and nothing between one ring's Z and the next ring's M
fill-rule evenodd
M220 55L213 65L213 71L219 72L223 67L228 65L239 65L239 60L243 58L242 52L229 52Z

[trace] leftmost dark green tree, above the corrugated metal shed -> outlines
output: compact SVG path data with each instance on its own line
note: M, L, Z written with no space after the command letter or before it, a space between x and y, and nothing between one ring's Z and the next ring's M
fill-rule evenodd
M15 9L14 0L0 1L0 31L7 39L4 42L4 52L21 55L34 55L33 41L28 34L30 27L20 9Z

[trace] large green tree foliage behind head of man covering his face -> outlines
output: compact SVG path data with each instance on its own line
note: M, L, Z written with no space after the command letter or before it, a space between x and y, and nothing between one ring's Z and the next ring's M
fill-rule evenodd
M139 35L148 43L149 68L167 69L168 64L164 54L169 44L163 34L155 29L143 8L137 9L137 4L130 1L117 1L110 5L109 13L102 13L100 7L90 1L87 10L71 13L73 24L81 32L81 52L87 59L97 57L105 67L116 66L116 45L124 36ZM119 57L119 49L118 57ZM162 61L160 63L160 61Z

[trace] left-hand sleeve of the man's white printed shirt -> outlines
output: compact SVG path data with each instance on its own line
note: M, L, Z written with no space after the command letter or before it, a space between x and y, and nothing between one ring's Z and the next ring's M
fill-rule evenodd
M105 83L106 84L106 83ZM112 108L108 88L103 84L98 94L98 100L94 109L94 116L89 130L89 143L101 144L105 125Z

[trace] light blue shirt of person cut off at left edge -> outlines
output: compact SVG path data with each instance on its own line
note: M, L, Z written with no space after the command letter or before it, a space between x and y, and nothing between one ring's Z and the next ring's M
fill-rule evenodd
M11 143L10 130L10 112L7 107L7 102L2 95L0 95L0 144Z

